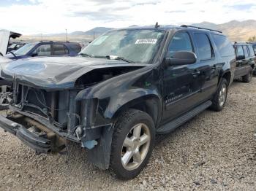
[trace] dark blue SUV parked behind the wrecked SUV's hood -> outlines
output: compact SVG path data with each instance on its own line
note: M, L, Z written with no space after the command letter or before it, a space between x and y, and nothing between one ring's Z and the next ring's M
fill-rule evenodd
M75 56L80 52L80 44L75 42L34 42L21 47L19 50L6 55L6 58L17 60L35 56Z

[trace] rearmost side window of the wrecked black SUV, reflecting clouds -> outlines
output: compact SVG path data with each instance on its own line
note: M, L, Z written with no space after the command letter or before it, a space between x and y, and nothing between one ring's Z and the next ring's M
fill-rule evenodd
M222 36L218 34L212 34L212 36L214 37L214 43L219 50L220 56L225 57L234 55L234 49L230 41L227 39L227 36Z

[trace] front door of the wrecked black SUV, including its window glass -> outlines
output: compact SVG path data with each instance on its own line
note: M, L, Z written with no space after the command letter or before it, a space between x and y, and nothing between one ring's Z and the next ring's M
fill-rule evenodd
M166 58L172 58L174 52L194 51L189 34L176 33L170 40ZM184 66L167 66L163 75L164 109L162 120L167 122L192 109L200 94L200 72L197 63Z

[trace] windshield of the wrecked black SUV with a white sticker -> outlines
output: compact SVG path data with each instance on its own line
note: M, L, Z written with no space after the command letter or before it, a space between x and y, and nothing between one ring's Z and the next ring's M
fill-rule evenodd
M80 55L103 58L113 55L113 58L124 58L133 63L149 63L164 36L165 31L157 29L110 31L91 42Z

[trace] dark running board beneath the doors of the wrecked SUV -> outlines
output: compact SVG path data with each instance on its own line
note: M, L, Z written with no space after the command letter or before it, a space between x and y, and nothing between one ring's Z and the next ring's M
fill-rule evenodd
M200 112L203 112L203 110L207 109L209 106L211 106L211 104L211 101L206 101L205 103L201 104L200 106L197 106L195 109L190 110L186 114L181 115L175 120L167 122L165 125L162 125L157 129L157 134L170 133L171 131L175 130L176 128L187 122L188 120L195 117L197 114L200 114Z

